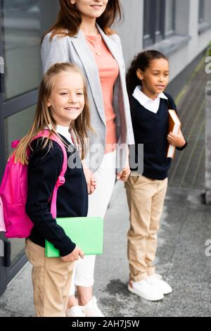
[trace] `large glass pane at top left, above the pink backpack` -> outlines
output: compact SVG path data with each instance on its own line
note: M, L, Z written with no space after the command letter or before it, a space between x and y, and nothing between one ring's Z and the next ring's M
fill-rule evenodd
M13 96L39 86L41 36L56 20L58 1L7 0L2 2L6 65L5 97L11 99Z

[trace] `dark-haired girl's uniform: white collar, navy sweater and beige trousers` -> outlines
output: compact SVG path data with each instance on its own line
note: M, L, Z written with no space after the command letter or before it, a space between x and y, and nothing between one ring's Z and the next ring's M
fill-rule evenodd
M138 144L143 144L143 173L132 169L127 183L130 211L127 253L130 280L139 282L155 274L153 261L157 248L157 233L167 192L168 170L172 162L167 158L168 109L177 111L172 96L160 93L155 100L134 89L130 100L135 137L136 162ZM187 144L187 143L186 143ZM182 150L186 144L177 148Z

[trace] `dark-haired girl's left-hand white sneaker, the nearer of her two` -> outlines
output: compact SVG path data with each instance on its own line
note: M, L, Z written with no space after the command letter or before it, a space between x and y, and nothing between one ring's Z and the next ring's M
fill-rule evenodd
M162 292L155 286L148 283L147 280L141 280L141 282L129 282L127 288L130 292L141 296L141 298L148 301L159 301L164 298Z

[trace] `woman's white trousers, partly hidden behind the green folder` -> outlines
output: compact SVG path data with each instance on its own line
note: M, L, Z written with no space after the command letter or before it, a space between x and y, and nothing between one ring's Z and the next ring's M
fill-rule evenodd
M96 177L96 190L89 195L88 216L102 217L113 192L116 177L116 151L105 154L100 168L94 173ZM75 286L91 287L94 285L94 265L96 256L84 256L75 262L75 269L72 274L70 295L75 294Z

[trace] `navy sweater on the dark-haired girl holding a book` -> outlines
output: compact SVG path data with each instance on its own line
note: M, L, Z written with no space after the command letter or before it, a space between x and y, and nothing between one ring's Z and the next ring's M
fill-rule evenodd
M170 94L165 93L168 100L160 99L157 113L148 111L134 96L130 98L132 125L134 129L136 163L138 161L138 144L143 144L143 176L165 180L172 158L167 158L167 135L169 133L168 110L177 111L177 106ZM178 150L183 150L187 142ZM131 169L136 170L136 169Z

